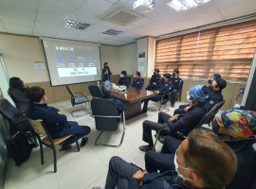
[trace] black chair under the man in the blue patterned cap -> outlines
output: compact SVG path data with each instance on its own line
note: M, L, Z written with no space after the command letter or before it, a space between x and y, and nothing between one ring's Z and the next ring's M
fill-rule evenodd
M224 101L224 100L223 100ZM169 128L166 128L166 129L160 129L157 134L156 134L156 140L155 140L155 145L156 145L156 142L159 140L159 138L161 137L162 139L159 140L161 143L164 142L164 136L161 136L161 132L165 132L165 135L170 135L170 136L173 136L174 138L177 138L179 140L184 140L187 138L188 134L192 131L192 129L198 129L200 128L201 126L203 126L205 123L210 123L210 120L214 118L215 114L218 112L218 110L220 109L220 107L224 104L224 102L221 101L221 102L218 102L217 104L215 104L211 109L210 109L210 112L208 112L199 122L198 124L194 127L194 128L191 128L190 130L188 130L187 133L181 133L179 131L176 131L176 132L171 132ZM213 116L213 118L212 118ZM155 147L154 145L154 147Z

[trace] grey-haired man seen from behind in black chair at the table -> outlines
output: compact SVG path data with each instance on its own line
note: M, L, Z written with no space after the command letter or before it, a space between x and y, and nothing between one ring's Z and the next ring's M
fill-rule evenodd
M114 98L114 96L111 94L112 87L111 85L103 85L101 87L101 92L103 94L104 98L111 99L116 108L118 109L118 112L124 112L126 110L126 106L120 101Z

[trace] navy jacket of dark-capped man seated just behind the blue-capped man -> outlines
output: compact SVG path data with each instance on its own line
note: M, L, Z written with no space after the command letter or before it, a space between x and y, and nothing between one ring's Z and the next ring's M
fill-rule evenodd
M209 92L210 92L209 97L207 98L207 101L205 103L205 107L207 108L208 112L215 104L223 100L223 95L221 94L221 90L213 91L212 87L209 86Z

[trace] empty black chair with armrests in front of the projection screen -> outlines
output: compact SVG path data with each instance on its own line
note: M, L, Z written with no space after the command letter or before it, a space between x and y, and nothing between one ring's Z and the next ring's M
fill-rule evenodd
M65 85L66 87L66 90L68 91L68 93L71 95L71 104L72 106L76 106L76 105L79 105L79 104L83 104L83 103L90 103L90 100L85 96L83 95L82 93L72 93L70 88L68 87L68 85ZM80 110L76 110L76 111L72 111L71 112L71 115L73 117L79 117L81 115L84 115L84 114L88 114L88 112L85 112L85 113L82 113L82 114L79 114L79 115L75 115L74 112L79 112L79 111L82 111L82 110L85 110L84 109L80 109Z

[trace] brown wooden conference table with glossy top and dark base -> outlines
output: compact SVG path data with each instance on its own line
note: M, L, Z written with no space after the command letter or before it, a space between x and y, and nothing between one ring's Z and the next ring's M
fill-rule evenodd
M141 100L152 97L155 92L147 91L144 89L135 89L128 87L126 91L112 90L111 94L121 100L127 107L125 111L125 119L131 119L141 113Z

